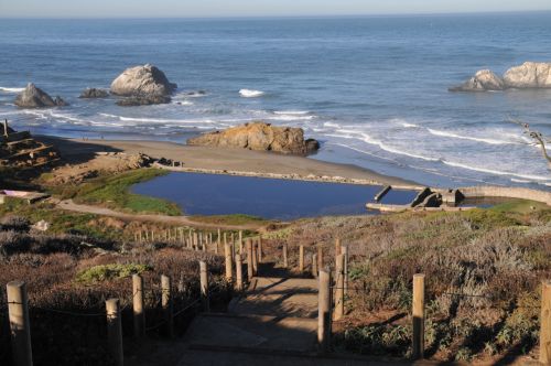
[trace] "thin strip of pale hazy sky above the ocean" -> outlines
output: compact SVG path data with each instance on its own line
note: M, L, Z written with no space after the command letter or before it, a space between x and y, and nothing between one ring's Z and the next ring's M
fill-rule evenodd
M218 18L551 10L550 0L0 0L0 18Z

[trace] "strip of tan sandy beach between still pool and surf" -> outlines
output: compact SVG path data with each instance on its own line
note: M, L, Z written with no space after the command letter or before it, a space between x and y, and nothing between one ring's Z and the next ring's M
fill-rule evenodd
M386 176L349 164L336 164L311 158L284 155L245 149L188 147L163 141L79 140L52 136L40 137L53 143L69 163L83 163L100 152L145 153L152 158L183 162L184 170L236 175L256 175L343 182L354 180L366 184L417 185L399 177Z

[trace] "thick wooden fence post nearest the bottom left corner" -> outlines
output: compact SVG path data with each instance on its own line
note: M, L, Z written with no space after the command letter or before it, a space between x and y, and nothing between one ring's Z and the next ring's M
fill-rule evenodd
M7 292L13 365L32 366L33 355L26 284L23 281L8 282Z

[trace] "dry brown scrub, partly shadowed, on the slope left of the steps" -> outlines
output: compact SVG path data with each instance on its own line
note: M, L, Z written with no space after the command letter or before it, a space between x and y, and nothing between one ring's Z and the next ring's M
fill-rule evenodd
M2 205L0 205L2 207ZM210 301L222 310L230 299L223 258L182 250L179 244L137 244L97 239L82 234L36 232L25 217L0 214L0 287L12 280L26 282L36 365L110 365L106 344L105 301L118 298L122 329L132 334L132 273L144 278L148 336L163 327L161 274L174 283L174 309L199 298L198 260L208 263ZM101 218L94 218L101 219ZM10 364L10 336L6 291L0 291L0 364ZM184 330L196 309L175 319ZM60 357L63 355L63 357Z

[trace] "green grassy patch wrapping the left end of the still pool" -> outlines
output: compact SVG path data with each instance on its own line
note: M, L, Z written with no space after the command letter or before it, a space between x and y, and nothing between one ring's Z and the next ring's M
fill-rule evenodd
M130 213L152 213L177 216L180 207L165 200L130 193L137 183L166 174L158 169L139 169L108 176L98 176L86 183L54 189L53 193L63 198L73 198L77 203L100 204Z

